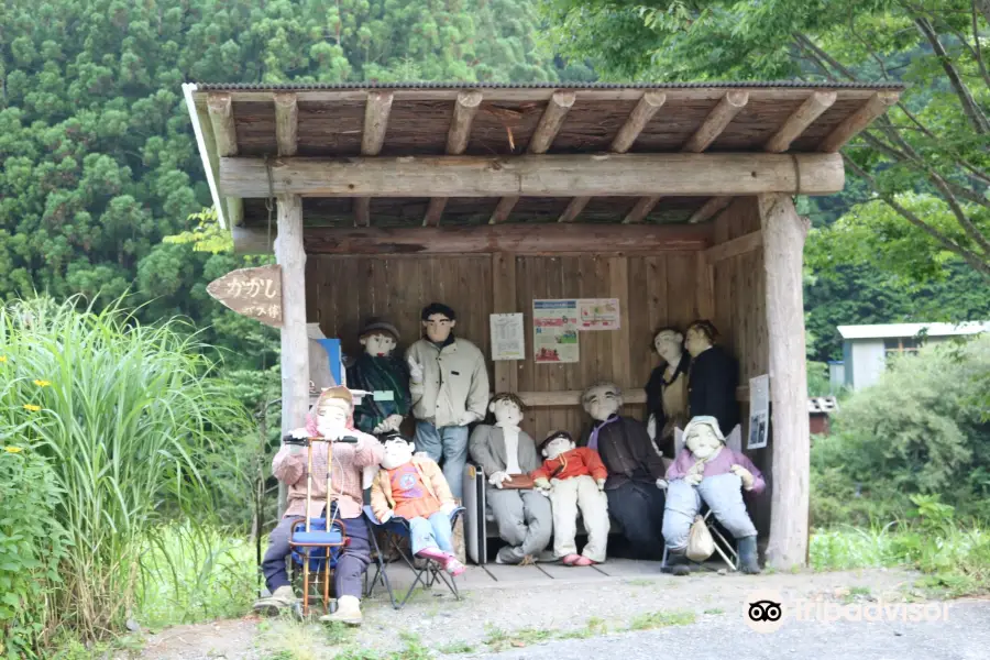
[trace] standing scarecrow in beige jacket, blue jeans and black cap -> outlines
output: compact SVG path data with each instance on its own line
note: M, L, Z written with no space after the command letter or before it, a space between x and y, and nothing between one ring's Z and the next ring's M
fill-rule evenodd
M485 358L453 334L453 309L431 302L420 315L426 337L406 352L416 417L416 449L441 463L453 496L463 495L468 425L484 419L488 405Z

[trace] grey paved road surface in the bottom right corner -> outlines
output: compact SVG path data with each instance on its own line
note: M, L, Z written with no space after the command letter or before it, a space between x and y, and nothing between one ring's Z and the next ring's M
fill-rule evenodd
M739 613L688 626L556 641L480 657L486 660L653 660L661 654L658 649L692 660L986 660L990 657L990 602L953 602L945 622L843 620L827 625L789 622L767 635L746 627Z

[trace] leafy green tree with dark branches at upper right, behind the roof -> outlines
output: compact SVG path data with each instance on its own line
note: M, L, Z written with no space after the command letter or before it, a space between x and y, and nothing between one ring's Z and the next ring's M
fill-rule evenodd
M865 195L822 239L835 261L904 278L944 277L960 260L990 280L986 0L544 0L544 10L552 42L603 77L911 82L845 150Z

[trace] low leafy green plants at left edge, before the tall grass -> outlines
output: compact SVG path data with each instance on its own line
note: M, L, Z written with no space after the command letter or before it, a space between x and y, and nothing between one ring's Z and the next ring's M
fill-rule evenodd
M0 364L0 374L10 367ZM7 387L10 387L8 382ZM25 448L21 409L0 409L0 658L34 658L48 629L46 602L61 582L68 537L54 517L55 475ZM13 418L13 419L11 419ZM18 419L20 418L20 419Z

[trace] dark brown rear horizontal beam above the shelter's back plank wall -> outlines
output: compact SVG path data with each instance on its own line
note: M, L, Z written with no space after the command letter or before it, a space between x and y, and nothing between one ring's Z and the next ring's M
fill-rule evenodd
M240 230L239 252L266 250L264 229ZM474 227L306 228L307 254L645 254L702 251L712 226L674 224L481 224Z

